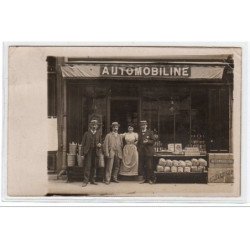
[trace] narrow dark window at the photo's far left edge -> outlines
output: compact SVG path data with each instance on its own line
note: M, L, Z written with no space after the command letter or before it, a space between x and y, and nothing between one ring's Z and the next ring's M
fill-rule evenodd
M57 116L56 59L47 57L48 118Z

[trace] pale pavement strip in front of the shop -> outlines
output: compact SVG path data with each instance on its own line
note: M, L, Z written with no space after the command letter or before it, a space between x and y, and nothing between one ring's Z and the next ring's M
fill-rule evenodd
M140 181L120 181L120 183L99 182L98 185L88 184L82 187L82 182L67 182L66 180L50 179L48 195L101 196L101 197L230 197L235 195L233 183L208 184L166 184Z

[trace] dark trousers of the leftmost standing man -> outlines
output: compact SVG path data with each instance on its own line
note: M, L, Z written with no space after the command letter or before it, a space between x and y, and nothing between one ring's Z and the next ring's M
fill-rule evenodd
M85 166L84 166L84 180L83 182L88 183L95 181L96 176L96 149L90 148L88 153L85 155Z

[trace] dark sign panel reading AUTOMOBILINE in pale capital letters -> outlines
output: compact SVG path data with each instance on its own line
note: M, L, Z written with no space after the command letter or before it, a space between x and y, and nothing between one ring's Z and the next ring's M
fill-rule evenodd
M188 78L190 66L186 65L104 65L101 76L109 77L166 77Z

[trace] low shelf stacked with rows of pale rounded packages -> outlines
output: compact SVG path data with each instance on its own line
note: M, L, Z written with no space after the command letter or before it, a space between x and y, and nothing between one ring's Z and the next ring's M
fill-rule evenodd
M154 155L155 181L160 183L207 183L207 155Z

